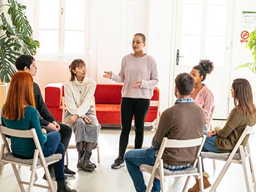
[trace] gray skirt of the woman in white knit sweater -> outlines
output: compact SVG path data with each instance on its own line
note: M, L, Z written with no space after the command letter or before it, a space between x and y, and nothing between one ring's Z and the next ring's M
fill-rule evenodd
M65 122L68 122L68 118L71 115L71 113L66 111ZM86 124L81 117L77 118L76 122L71 124L72 130L75 134L76 144L81 141L86 143L98 143L101 125L99 124L97 117L93 114L92 108L90 108L85 115L92 120L91 124Z

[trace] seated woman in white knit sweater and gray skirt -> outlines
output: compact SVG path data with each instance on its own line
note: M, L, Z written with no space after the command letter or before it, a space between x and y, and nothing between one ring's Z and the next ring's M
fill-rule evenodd
M77 168L92 172L96 164L90 161L98 142L100 124L93 114L92 99L96 82L86 77L83 60L74 60L69 66L71 78L64 84L67 112L65 122L71 124L76 135Z

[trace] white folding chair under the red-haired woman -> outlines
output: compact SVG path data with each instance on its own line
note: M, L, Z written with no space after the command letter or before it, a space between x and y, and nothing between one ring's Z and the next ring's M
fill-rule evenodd
M3 172L4 164L10 163L10 164L12 164L13 172L15 173L15 177L19 184L20 191L24 192L25 189L24 189L23 184L27 184L27 185L29 185L28 191L32 191L32 187L36 186L39 188L50 189L52 192L54 192L55 191L54 186L52 184L51 176L50 176L47 166L49 164L53 164L53 163L60 161L60 159L62 158L62 155L61 154L52 154L52 156L44 157L44 154L42 152L42 148L40 146L40 142L36 135L35 129L19 131L19 130L10 129L10 128L0 125L0 134L1 134L1 138L3 140L3 144L1 145L1 151L0 151L0 164L1 164L0 172ZM18 138L32 138L34 140L35 146L36 146L33 159L20 159L20 158L13 156L13 154L10 150L10 147L8 145L8 141L6 140L6 135L15 136ZM4 153L5 149L7 150L6 153ZM20 179L20 175L19 175L19 172L18 172L15 164L22 165L22 166L28 166L31 168L31 177L30 177L29 182L26 182L26 181ZM48 182L49 186L35 183L35 175L36 175L35 171L38 168L44 168L45 175L46 175L47 182Z

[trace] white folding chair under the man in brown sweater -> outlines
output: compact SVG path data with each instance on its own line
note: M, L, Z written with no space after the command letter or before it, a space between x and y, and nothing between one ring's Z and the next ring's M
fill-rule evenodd
M188 183L191 178L191 176L198 177L200 182L200 191L204 191L204 182L203 182L203 173L202 173L202 161L200 157L200 152L203 148L205 141L205 136L202 136L202 138L197 138L194 140L168 140L167 138L164 138L161 147L159 149L159 152L156 157L156 162L154 166L149 164L141 164L140 169L142 172L147 172L151 174L150 180L148 182L147 191L149 192L154 178L160 180L161 183L161 191L164 191L164 180L169 177L188 177L186 180L186 183L184 185L184 188L182 191L187 191ZM190 166L189 168L186 168L184 170L178 170L178 171L170 171L167 169L164 169L163 167L163 152L164 148L187 148L187 147L196 147L200 146L198 148L198 151L196 153L196 159L193 163L193 166ZM196 164L198 165L198 169L196 168Z

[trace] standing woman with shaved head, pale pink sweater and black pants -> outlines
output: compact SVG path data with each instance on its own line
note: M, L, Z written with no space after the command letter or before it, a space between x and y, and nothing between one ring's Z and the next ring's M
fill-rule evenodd
M119 139L119 155L111 168L124 166L124 153L131 131L132 116L135 123L135 145L141 148L145 117L148 112L150 99L154 87L158 83L157 64L152 56L143 52L145 35L136 33L132 39L134 53L124 56L121 70L118 75L114 72L105 72L104 77L116 83L124 83L122 88L121 123L122 131Z

